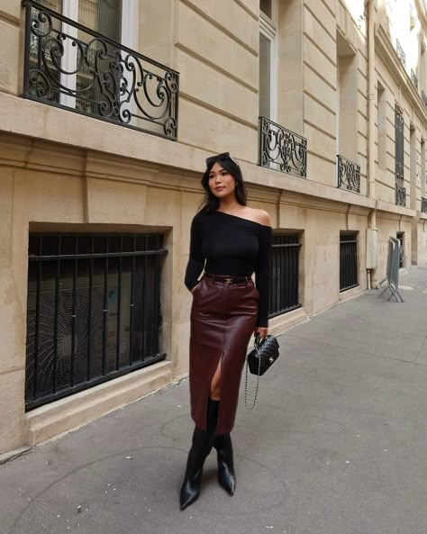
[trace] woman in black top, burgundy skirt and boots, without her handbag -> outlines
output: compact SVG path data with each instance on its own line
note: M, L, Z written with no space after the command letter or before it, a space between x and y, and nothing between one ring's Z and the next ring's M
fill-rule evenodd
M268 334L268 213L246 206L241 168L228 152L206 159L202 185L206 195L191 225L186 267L186 287L193 293L190 398L195 430L180 491L181 510L197 499L204 460L212 448L217 451L218 481L234 493L230 432L241 371L251 334Z

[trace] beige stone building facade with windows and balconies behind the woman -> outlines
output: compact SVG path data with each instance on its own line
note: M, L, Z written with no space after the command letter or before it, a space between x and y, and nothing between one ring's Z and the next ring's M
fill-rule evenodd
M389 236L427 261L426 35L422 0L0 0L0 453L186 376L213 153L273 222L272 331Z

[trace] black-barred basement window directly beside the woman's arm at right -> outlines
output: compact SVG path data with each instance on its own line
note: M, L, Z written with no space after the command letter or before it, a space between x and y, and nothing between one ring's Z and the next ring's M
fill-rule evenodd
M297 233L273 234L269 317L301 307L298 301L300 248Z

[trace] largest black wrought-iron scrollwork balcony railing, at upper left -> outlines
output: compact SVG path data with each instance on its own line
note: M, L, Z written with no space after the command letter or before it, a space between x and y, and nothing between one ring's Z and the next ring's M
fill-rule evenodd
M31 0L23 96L177 139L179 74Z

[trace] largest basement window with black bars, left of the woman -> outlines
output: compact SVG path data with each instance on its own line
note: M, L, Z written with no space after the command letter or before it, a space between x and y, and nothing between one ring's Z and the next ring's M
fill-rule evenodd
M162 235L30 234L25 407L166 357Z

